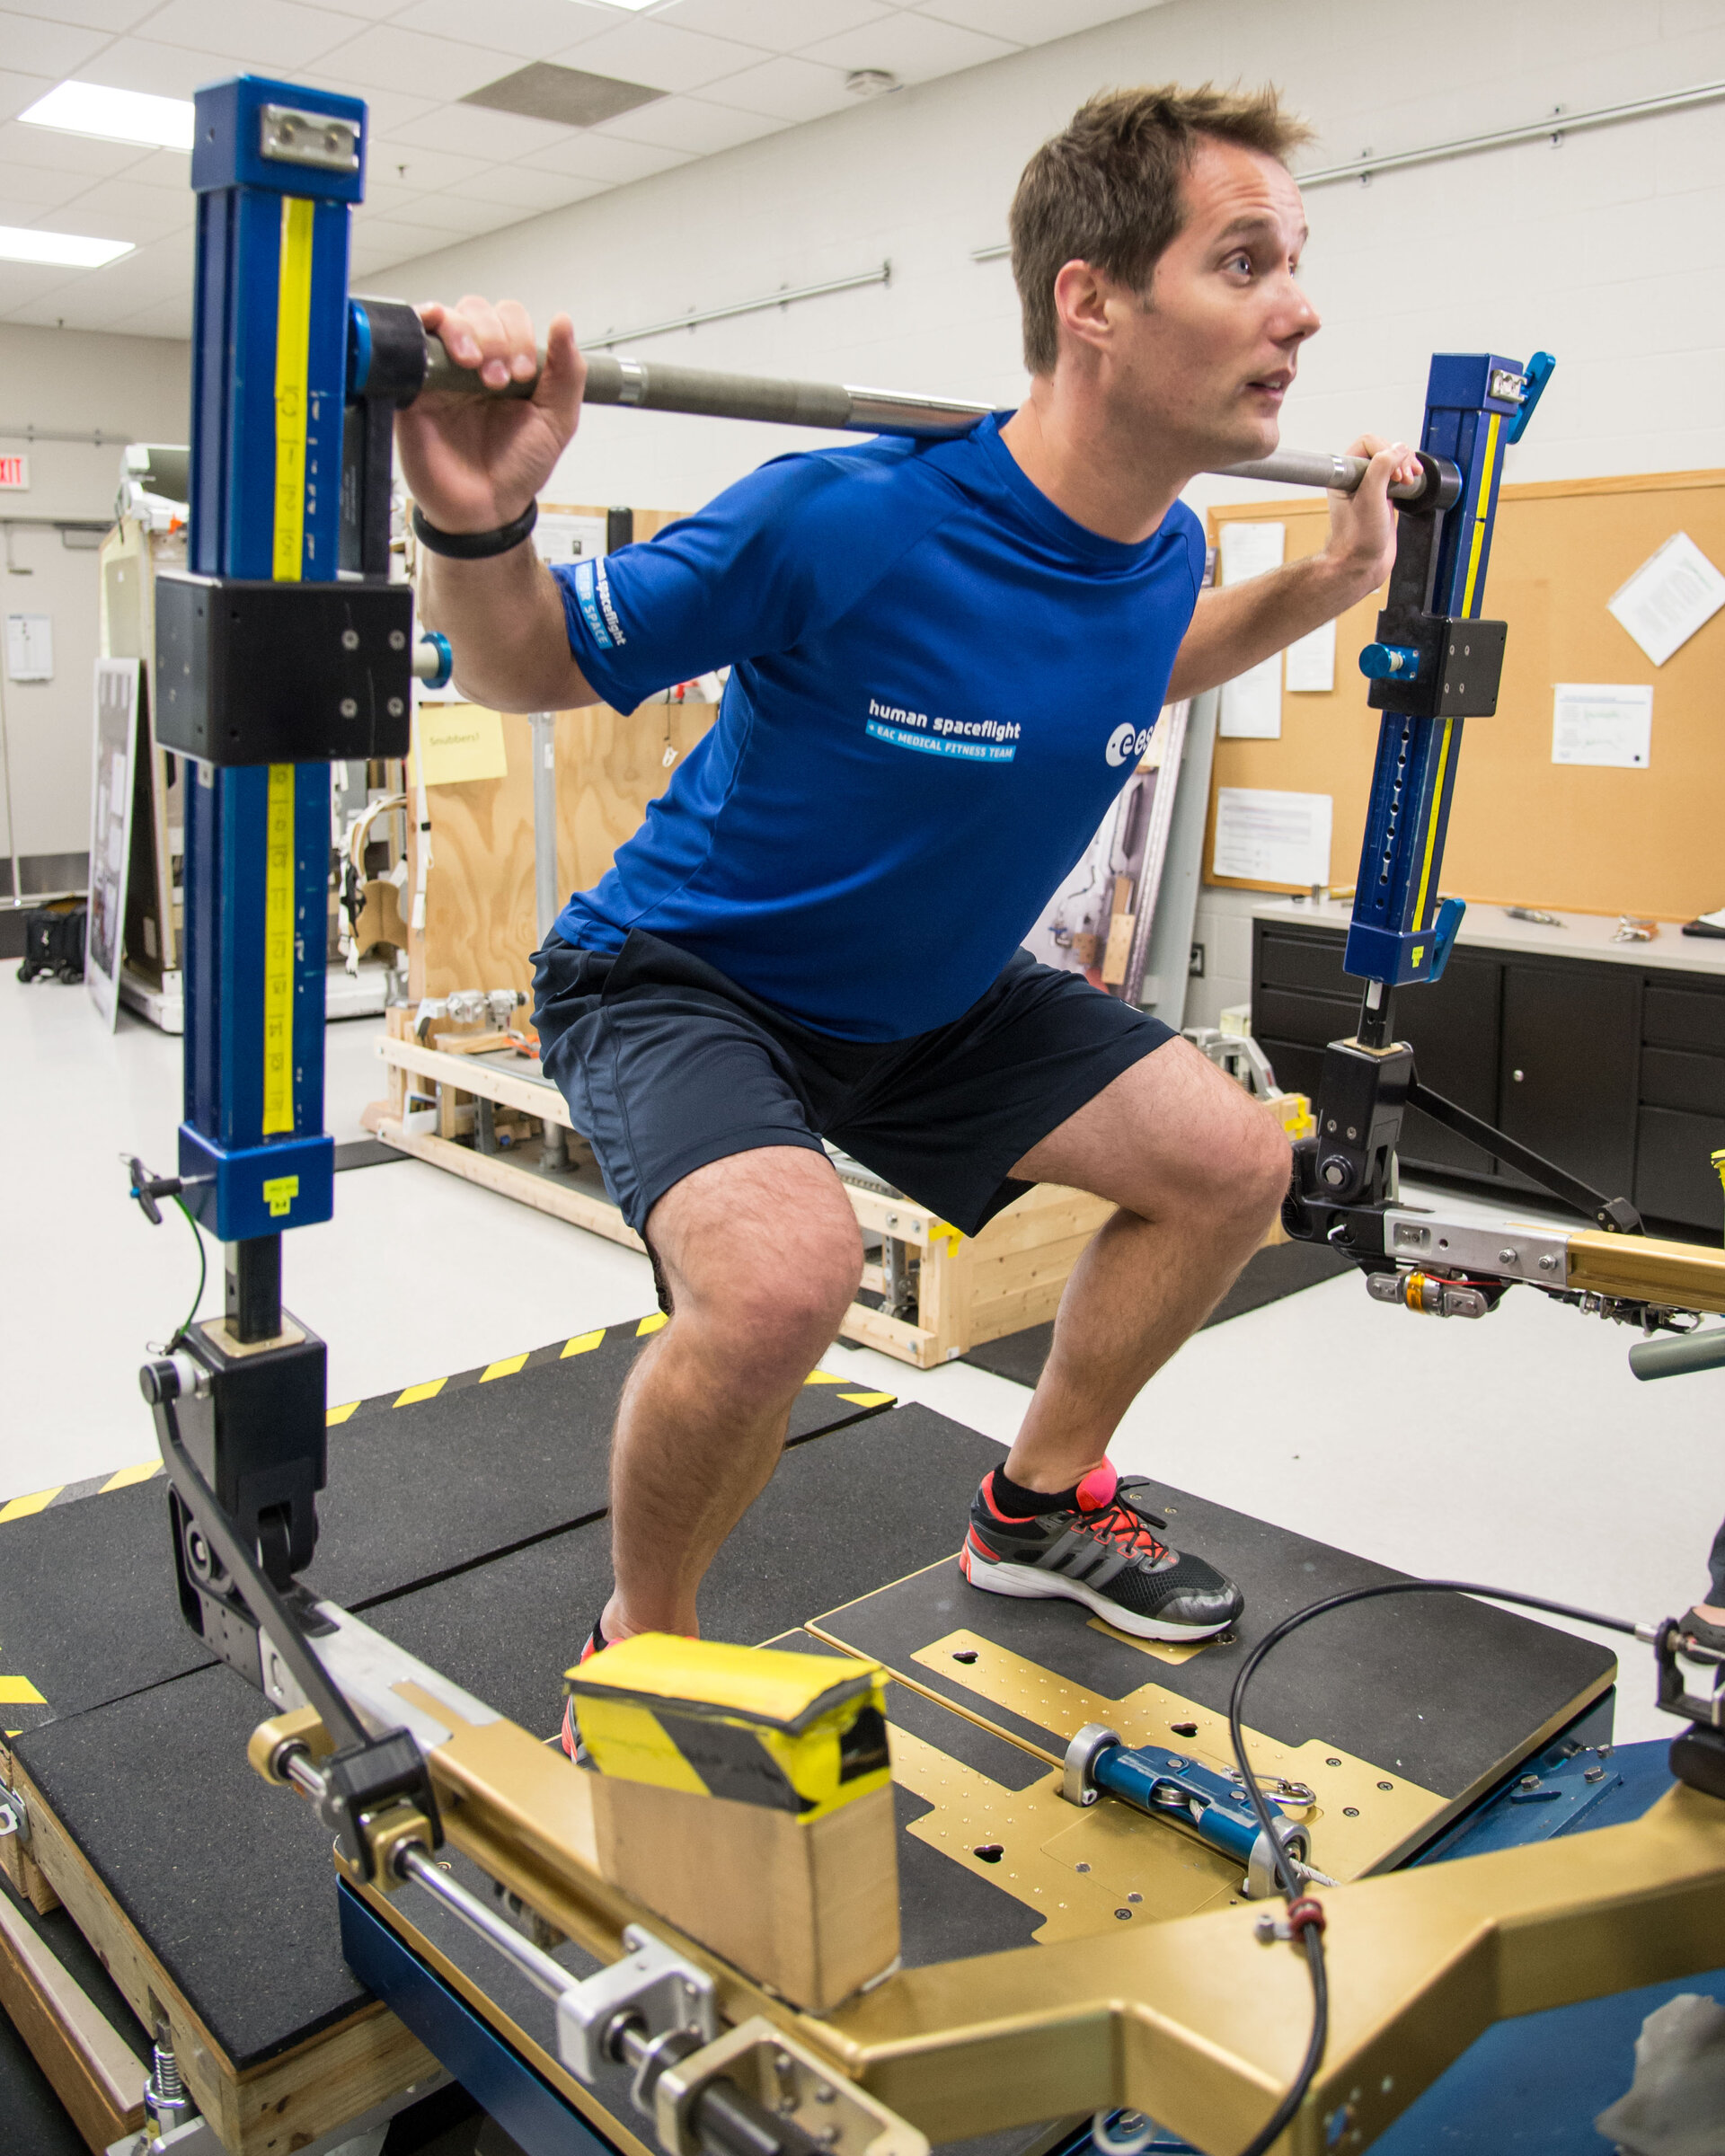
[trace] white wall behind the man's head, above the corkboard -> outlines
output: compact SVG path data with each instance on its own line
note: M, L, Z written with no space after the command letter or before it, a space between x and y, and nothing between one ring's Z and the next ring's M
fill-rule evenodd
M1059 45L815 121L375 280L405 298L515 295L580 332L893 263L893 282L643 343L645 358L1011 403L1024 386L1005 261L1013 181L1104 84L1276 82L1341 164L1522 125L1555 106L1725 75L1719 0L1171 0ZM1725 108L1313 190L1307 285L1324 332L1289 446L1412 433L1434 349L1548 347L1559 371L1516 479L1725 464ZM589 412L554 481L569 500L692 507L789 429ZM1264 494L1199 481L1197 507ZM1350 862L1337 862L1346 880ZM1188 1018L1248 994L1248 893L1205 890L1208 972Z

